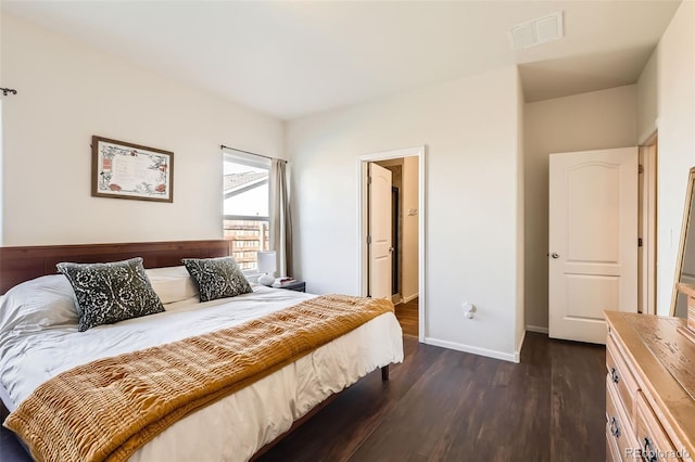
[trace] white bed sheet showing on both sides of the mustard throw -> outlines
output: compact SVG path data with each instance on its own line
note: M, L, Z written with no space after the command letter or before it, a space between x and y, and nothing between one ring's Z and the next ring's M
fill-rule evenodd
M98 358L240 324L314 295L254 286L252 294L184 300L162 313L77 332L52 326L0 342L0 384L13 410L41 383ZM403 361L402 331L381 315L292 364L180 420L132 461L245 461L292 422L372 370Z

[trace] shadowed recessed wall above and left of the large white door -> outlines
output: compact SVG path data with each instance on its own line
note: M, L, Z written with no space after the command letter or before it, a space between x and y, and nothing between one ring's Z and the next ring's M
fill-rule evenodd
M634 85L529 103L525 111L525 308L548 326L548 154L635 145Z

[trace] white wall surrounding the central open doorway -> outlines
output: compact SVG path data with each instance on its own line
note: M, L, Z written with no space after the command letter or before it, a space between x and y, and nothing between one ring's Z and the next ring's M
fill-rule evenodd
M515 359L517 84L505 67L290 121L307 290L357 293L357 157L426 144L426 342Z

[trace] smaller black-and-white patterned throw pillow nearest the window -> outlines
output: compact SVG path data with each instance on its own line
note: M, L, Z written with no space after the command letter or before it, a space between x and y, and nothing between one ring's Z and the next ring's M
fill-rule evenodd
M201 301L253 292L237 261L231 257L184 258L181 261L198 285Z

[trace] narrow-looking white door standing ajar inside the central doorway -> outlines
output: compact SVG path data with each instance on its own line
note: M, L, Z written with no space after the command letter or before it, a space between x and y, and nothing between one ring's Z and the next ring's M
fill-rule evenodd
M391 299L391 170L369 163L369 296Z

